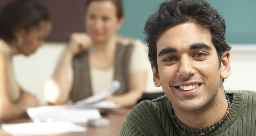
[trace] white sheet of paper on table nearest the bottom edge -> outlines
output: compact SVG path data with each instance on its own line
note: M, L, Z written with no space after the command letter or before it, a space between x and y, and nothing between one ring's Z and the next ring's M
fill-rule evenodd
M85 132L86 128L71 122L38 122L1 124L1 129L15 136L32 136L65 132Z

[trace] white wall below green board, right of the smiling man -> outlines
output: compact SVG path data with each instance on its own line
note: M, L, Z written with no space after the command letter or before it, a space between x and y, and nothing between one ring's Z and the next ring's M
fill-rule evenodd
M231 74L224 88L256 91L256 45L233 45L230 52Z

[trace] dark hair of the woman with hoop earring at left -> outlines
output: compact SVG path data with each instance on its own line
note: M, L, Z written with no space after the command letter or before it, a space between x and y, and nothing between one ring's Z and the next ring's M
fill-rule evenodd
M36 0L12 0L0 10L0 38L10 43L19 28L29 31L50 20L47 8Z

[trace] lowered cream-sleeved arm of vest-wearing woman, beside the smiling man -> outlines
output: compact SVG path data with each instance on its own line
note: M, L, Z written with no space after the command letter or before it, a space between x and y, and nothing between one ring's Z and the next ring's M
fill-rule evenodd
M134 106L145 92L147 81L147 55L145 45L136 40L129 62L129 91L119 96L110 96L119 107Z

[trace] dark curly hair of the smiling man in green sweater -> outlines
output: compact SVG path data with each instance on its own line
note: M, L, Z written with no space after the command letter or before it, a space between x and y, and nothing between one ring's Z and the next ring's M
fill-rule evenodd
M205 0L169 0L160 4L158 12L151 15L144 26L145 41L148 46L148 58L157 67L156 41L162 32L171 26L193 22L211 32L212 43L218 54L219 64L223 52L230 50L225 38L225 20L215 8ZM224 81L224 80L223 80Z

